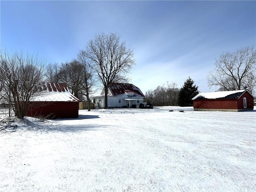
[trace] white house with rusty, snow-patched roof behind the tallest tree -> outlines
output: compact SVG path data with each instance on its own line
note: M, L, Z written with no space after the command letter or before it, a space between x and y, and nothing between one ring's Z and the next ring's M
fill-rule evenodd
M90 96L95 106L104 108L104 89L100 94ZM144 102L144 94L141 90L128 83L113 83L108 88L108 107L109 108L139 108Z

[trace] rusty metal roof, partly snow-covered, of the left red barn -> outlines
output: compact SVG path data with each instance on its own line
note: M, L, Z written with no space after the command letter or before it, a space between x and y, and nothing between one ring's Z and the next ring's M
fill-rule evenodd
M30 101L65 101L79 102L80 100L71 94L66 83L41 82L36 88L38 93Z

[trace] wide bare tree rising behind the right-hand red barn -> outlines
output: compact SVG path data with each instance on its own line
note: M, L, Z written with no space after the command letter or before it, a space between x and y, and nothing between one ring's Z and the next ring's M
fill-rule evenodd
M256 50L254 47L225 52L215 62L215 69L208 74L208 86L220 86L224 90L248 89L255 93Z

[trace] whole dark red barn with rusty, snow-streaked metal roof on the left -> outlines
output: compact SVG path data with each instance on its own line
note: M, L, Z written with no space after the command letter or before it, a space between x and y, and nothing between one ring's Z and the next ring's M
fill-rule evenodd
M78 118L79 99L66 83L40 83L38 95L30 101L26 116L47 118Z

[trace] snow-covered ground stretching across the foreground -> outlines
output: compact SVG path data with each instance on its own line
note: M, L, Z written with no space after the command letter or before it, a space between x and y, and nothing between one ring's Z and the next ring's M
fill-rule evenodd
M256 191L256 109L26 121L0 132L0 191Z

